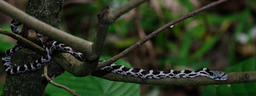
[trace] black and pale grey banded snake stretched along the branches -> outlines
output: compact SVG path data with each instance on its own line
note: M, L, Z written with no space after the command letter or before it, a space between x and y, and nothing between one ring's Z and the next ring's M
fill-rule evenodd
M16 19L13 19L11 21L11 30L13 33L23 36L21 31L17 28L18 25L21 25L19 21ZM32 63L25 63L23 66L12 66L11 63L11 56L16 51L22 49L22 43L18 42L16 45L5 51L2 62L5 66L5 70L8 75L17 75L17 74L23 74L27 72L35 72L42 68L46 63L48 63L51 60L51 55L55 51L62 51L62 52L69 52L71 55L73 55L76 59L80 61L84 61L84 55L76 50L74 50L71 47L65 46L65 44L58 43L57 41L54 41L53 43L49 44L47 47L45 47L44 43L42 42L40 34L36 33L40 46L42 48L45 48L44 55L40 56L37 60L35 60ZM220 80L225 81L228 79L228 76L225 72L222 71L216 71L216 70L210 70L208 68L200 68L196 71L189 71L189 70L182 70L182 71L175 71L175 70L164 70L164 71L158 71L158 70L143 70L139 68L127 68L125 66L119 66L112 63L110 66L105 66L101 68L100 70L120 74L124 76L133 76L143 79L162 79L162 78L195 78L198 76L206 76L213 80Z

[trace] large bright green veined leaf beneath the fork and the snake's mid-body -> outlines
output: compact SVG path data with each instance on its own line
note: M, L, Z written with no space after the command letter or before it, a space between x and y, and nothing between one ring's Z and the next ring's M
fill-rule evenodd
M116 64L121 63L124 66L130 66L129 63L119 60ZM74 77L72 74L65 72L54 82L65 85L80 95L139 95L139 84L114 82L93 76ZM49 95L71 95L68 91L48 84L45 90Z

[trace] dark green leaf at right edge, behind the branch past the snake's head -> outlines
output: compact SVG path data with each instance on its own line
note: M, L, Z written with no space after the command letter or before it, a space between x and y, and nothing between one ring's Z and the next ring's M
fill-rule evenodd
M228 68L225 72L255 71L256 56L249 58L238 65ZM256 83L238 83L223 85L208 85L203 95L255 95Z

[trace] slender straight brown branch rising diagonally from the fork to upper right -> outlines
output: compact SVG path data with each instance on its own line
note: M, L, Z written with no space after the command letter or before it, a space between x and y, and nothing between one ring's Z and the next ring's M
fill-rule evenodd
M187 19L189 17L193 17L195 16L196 14L208 9L208 8L211 8L211 7L214 7L214 6L217 6L217 5L220 5L222 3L225 3L227 1L230 1L230 0L220 0L220 1L217 1L217 2L214 2L214 3L211 3L209 5L206 5L196 11L193 11L187 15L184 15L178 19L175 19L167 24L165 24L164 26L160 27L159 29L155 30L153 33L151 33L150 35L144 37L143 39L141 39L139 42L137 42L136 44L132 45L131 47L125 49L124 51L122 51L121 53L119 53L118 55L106 60L106 61L103 61L103 62L99 62L99 66L98 66L98 69L102 68L102 67L105 67L105 66L109 66L111 65L111 63L117 61L118 59L122 58L123 56L125 56L127 53L130 53L131 51L133 51L134 49L140 47L142 44L144 44L145 42L147 42L148 40L152 39L153 37L157 36L159 33L161 33L163 30L165 30L166 28L169 28L170 26L184 20L184 19Z

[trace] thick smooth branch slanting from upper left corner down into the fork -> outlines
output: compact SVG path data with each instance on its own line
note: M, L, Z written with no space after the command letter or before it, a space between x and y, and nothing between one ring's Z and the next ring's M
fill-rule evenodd
M71 72L71 74L81 77L81 76L90 75L91 72L96 70L96 67L97 67L96 64L98 63L98 59L91 58L92 57L91 55L94 54L92 52L92 44L93 44L92 42L74 37L70 34L65 33L62 30L59 30L44 22L41 22L36 18L18 10L17 8L11 6L10 4L4 1L0 1L0 11L2 11L3 13L7 14L10 17L15 17L15 19L19 20L25 25L37 30L38 33L43 34L47 37L50 37L56 41L65 43L67 46L70 46L78 50L79 52L83 53L85 58L87 59L85 62L83 62L83 65L79 65L79 68L80 69L83 68L83 70L79 70L81 73L78 73L79 71L76 71L77 73L72 73L71 71L69 71ZM20 39L20 42L23 42L23 39ZM36 50L38 48L34 48L34 49ZM40 50L40 51L44 52L43 50ZM60 66L63 66L63 65L60 65Z

